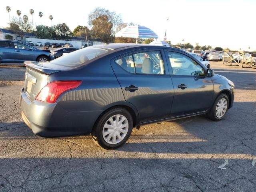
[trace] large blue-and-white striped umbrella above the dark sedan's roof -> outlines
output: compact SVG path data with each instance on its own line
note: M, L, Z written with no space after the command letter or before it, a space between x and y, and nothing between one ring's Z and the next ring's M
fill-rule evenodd
M157 34L150 28L141 25L129 25L122 28L116 33L116 37L130 37L130 38L155 38L158 39ZM137 42L137 40L136 40Z

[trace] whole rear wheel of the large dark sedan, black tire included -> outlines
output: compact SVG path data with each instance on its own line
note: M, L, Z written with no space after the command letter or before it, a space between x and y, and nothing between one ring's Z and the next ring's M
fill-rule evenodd
M119 126L115 124L118 117ZM114 107L104 112L97 120L92 130L92 139L104 149L115 149L128 140L132 128L131 114L124 108Z

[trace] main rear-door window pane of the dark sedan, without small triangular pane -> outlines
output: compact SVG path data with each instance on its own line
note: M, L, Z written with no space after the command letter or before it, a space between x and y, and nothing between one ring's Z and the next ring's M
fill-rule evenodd
M164 74L164 63L160 51L133 54L136 73Z

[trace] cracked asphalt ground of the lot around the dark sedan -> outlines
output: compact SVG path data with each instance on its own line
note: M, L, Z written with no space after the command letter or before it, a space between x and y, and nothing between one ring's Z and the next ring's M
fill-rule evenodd
M25 68L0 68L0 191L255 192L256 70L211 68L236 85L222 121L197 116L142 126L117 150L90 136L34 135L18 108ZM226 169L218 169L225 158Z

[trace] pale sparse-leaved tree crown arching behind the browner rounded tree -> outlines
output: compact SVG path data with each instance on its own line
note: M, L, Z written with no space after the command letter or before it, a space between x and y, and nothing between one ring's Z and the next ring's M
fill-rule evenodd
M98 18L99 16L107 16L108 22L112 23L112 26L116 28L122 22L122 16L120 14L116 14L116 12L110 12L109 10L101 7L97 7L90 12L88 15L88 25L92 26L92 21Z

